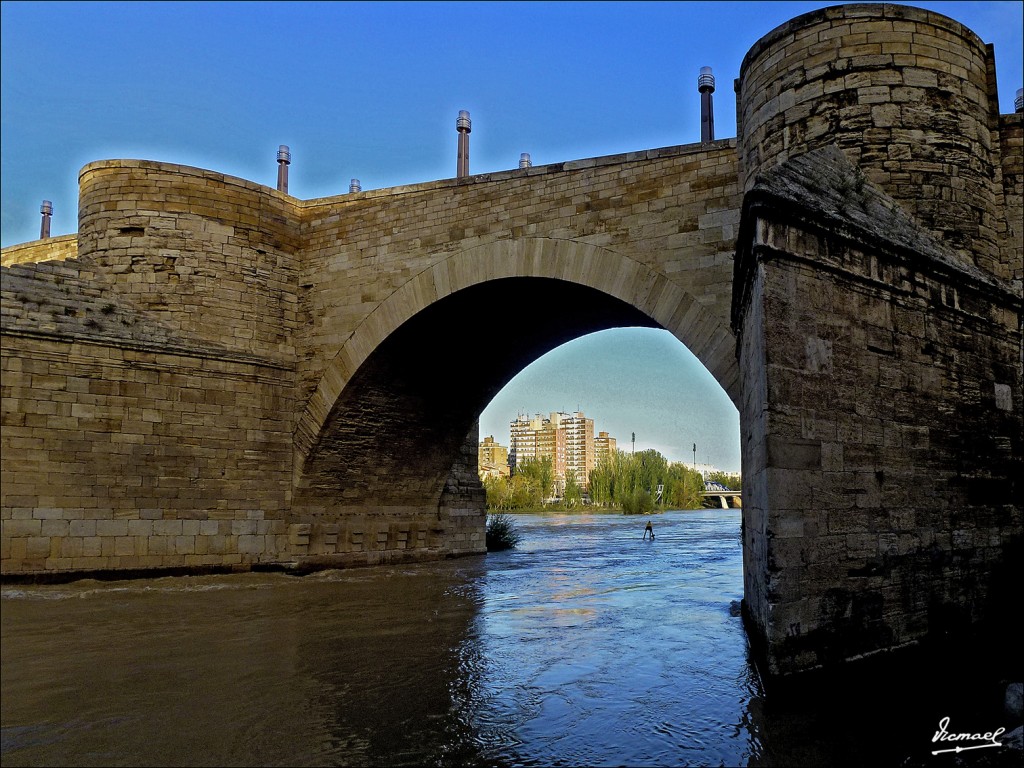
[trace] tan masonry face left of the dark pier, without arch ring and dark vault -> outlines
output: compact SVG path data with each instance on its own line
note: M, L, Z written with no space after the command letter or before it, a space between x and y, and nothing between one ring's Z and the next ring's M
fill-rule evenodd
M182 166L86 166L79 234L4 250L4 572L482 551L475 436L439 506L370 489L327 516L293 510L310 389L416 274L527 233L622 251L722 325L734 159L724 141L305 203Z

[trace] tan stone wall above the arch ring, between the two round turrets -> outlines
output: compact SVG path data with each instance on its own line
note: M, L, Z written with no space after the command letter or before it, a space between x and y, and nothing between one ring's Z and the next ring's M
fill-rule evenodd
M723 140L304 203L304 391L396 289L454 253L501 241L571 241L636 259L727 327L735 162L734 141Z

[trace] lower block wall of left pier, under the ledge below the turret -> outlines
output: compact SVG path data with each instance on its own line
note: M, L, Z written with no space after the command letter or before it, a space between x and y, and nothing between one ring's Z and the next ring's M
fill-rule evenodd
M251 565L287 551L292 377L5 334L4 573Z

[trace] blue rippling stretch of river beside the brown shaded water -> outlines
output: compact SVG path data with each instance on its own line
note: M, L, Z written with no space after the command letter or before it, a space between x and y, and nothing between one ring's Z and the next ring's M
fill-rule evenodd
M520 518L487 556L479 723L488 757L550 765L733 765L755 734L738 512ZM488 731L499 729L490 735Z

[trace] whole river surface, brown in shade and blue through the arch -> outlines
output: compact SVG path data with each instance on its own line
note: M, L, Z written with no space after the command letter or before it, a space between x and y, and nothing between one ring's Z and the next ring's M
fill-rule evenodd
M623 515L514 519L515 550L443 562L6 586L2 763L906 765L932 746L892 692L857 722L765 696L730 609L738 510L656 515L654 542Z

